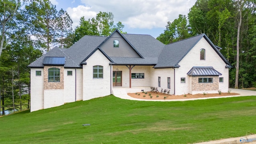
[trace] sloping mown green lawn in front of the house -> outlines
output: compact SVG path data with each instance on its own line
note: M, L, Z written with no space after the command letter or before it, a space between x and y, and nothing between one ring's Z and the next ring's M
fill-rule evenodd
M256 96L144 102L110 95L0 117L0 142L191 144L256 134L255 126Z

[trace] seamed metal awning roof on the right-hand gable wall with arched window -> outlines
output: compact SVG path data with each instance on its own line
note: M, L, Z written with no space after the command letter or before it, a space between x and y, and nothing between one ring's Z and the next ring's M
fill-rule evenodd
M194 66L187 73L189 76L220 76L220 72L215 70L212 66Z

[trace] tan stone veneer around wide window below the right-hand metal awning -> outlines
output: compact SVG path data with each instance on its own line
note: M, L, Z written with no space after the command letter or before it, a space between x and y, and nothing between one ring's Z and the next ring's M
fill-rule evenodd
M213 83L198 83L198 78L213 78ZM192 91L219 90L218 76L192 76Z

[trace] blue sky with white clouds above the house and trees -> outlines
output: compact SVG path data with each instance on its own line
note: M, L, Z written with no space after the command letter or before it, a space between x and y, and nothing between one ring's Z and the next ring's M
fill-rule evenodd
M128 34L150 34L154 38L164 32L168 21L179 14L187 15L196 0L50 0L56 8L66 10L73 20L73 30L82 16L93 18L100 11L112 12L114 22L122 22Z

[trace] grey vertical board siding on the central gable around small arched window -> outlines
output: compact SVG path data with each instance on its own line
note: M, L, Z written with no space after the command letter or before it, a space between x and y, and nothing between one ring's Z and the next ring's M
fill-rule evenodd
M114 47L114 40L119 41L119 47ZM109 57L130 57L130 58L140 58L138 53L126 42L120 34L114 33L100 48Z

